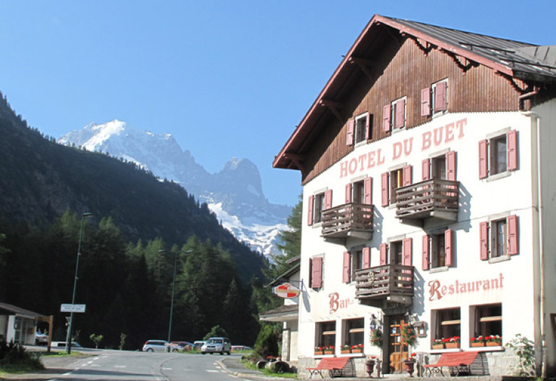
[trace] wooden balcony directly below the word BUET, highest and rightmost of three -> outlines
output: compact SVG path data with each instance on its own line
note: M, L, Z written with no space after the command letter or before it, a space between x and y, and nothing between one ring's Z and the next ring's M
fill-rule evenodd
M430 217L457 221L457 181L431 179L396 189L396 218L402 222Z

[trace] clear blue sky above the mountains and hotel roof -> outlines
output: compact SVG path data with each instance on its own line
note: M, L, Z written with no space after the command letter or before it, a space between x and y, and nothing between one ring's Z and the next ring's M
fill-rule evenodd
M272 160L374 14L556 44L556 1L0 0L0 91L45 135L124 120L170 133L209 172Z

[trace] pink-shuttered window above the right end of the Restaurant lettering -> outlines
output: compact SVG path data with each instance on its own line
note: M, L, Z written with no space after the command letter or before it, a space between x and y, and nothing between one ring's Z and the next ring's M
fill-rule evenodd
M519 254L518 216L481 222L479 229L480 259L483 261Z

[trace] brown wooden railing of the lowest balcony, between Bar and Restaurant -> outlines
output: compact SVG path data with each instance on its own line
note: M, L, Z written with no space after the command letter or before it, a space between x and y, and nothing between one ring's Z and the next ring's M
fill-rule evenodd
M356 272L358 299L413 296L413 266L384 265Z

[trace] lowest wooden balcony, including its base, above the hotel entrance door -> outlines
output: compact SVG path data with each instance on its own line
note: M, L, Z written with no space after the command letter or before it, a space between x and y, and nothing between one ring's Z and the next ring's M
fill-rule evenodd
M365 268L356 272L355 298L379 308L411 306L413 266L393 265Z

